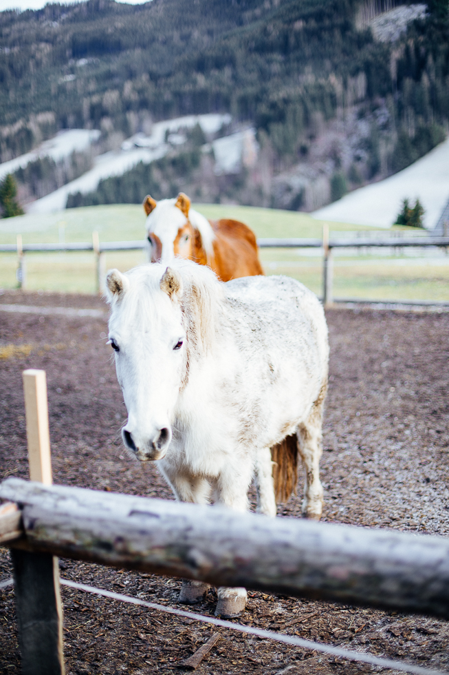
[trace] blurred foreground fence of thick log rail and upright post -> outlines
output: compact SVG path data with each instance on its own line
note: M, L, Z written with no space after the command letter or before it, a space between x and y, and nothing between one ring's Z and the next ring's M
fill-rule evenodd
M0 484L0 543L25 675L64 672L57 555L449 619L449 539L53 486L45 372L23 381L32 481Z

